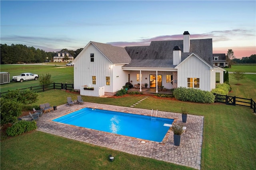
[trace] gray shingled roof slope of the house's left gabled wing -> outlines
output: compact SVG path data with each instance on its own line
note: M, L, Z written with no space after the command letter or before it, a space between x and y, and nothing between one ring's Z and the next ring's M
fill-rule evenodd
M106 43L91 42L95 45L113 64L130 63L131 58L123 47L116 47Z

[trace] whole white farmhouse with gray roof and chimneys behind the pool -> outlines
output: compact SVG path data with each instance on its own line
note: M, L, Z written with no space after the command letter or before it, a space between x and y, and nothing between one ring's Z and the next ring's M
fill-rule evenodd
M74 89L81 95L114 95L126 82L148 83L150 88L215 88L216 73L223 83L223 71L213 65L212 39L153 41L148 46L116 47L89 42L74 59ZM93 90L84 90L84 87Z

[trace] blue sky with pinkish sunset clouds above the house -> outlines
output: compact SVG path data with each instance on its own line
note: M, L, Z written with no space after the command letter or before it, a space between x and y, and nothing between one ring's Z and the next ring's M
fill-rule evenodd
M76 50L90 41L115 46L212 38L213 53L256 54L256 1L0 1L0 43L44 51Z

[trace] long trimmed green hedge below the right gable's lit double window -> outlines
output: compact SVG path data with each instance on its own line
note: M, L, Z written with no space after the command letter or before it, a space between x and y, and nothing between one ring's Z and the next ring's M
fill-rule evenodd
M200 89L178 87L174 89L173 95L181 101L192 101L198 103L214 103L215 96L210 91Z

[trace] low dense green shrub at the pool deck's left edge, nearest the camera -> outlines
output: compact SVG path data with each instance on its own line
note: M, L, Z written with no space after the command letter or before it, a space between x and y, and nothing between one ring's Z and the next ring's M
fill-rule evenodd
M13 124L12 127L7 128L6 134L8 136L17 136L36 128L35 121L18 121L17 123Z

